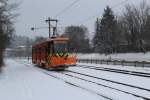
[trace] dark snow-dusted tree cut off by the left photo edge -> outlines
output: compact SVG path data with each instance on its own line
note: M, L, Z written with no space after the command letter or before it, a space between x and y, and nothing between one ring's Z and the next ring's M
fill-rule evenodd
M17 6L9 4L8 0L0 0L0 67L3 65L3 52L14 32L13 19L17 14L12 11L16 10Z

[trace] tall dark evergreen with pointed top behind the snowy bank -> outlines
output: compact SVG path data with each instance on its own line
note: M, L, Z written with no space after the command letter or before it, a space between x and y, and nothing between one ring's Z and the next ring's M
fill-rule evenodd
M111 8L104 10L102 19L96 21L96 34L93 38L94 48L99 53L112 53L117 45L117 21Z

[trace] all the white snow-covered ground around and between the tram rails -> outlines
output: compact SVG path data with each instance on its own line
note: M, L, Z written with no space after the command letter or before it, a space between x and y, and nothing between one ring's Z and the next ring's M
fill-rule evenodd
M150 98L150 91L141 90L121 84L111 83L100 79L91 78L71 72L52 72L40 69L32 65L26 59L7 59L6 67L0 74L0 99L1 100L143 100L136 97L144 96ZM134 70L139 72L150 73L149 68L135 68L132 66L114 66L114 65L96 65L96 64L80 64L101 66L106 68L117 68L122 70ZM99 78L104 78L124 84L129 84L145 89L150 89L150 78L140 76L125 75L120 73L97 71L80 67L69 67L68 70L78 73L84 73ZM47 74L45 74L47 73ZM49 75L60 78L58 80ZM83 81L66 74L90 80L108 87L100 86L94 83ZM74 87L65 83L70 82ZM127 93L118 91L126 91ZM100 95L98 95L100 94ZM135 94L135 95L132 95ZM103 97L105 96L105 97Z

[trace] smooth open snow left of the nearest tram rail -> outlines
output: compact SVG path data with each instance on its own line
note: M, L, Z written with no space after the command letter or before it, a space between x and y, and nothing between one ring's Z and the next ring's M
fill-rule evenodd
M103 100L39 70L6 60L0 74L0 100Z

